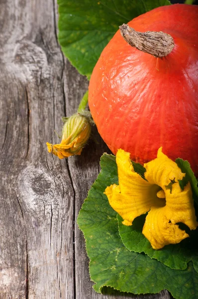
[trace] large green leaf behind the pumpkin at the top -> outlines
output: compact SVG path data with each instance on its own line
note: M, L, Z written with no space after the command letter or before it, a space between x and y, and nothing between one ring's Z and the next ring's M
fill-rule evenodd
M168 0L58 0L59 43L65 56L90 78L99 55L119 25Z

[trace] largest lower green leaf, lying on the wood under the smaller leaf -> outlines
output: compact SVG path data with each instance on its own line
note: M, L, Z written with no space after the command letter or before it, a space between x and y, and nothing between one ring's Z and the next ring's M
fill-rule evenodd
M101 157L101 172L78 216L78 225L86 239L94 288L112 287L133 294L170 291L176 299L196 299L198 273L193 263L186 270L173 270L145 254L125 248L118 232L116 212L103 194L106 186L117 183L115 157Z

